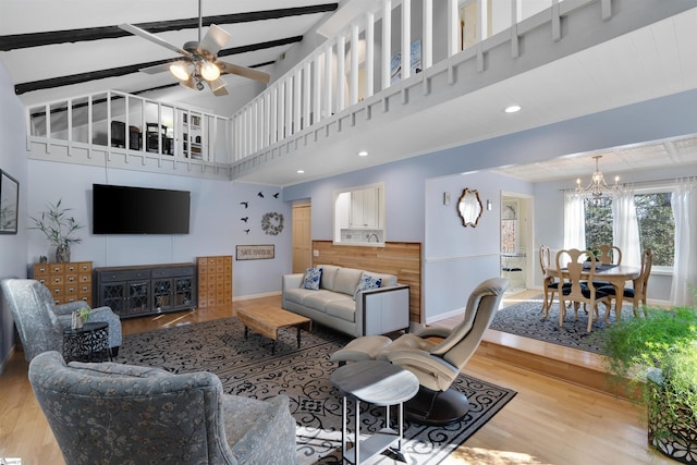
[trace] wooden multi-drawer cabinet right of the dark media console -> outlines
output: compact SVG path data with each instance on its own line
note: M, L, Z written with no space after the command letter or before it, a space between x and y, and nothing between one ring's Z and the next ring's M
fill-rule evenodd
M198 308L232 305L232 255L196 257Z

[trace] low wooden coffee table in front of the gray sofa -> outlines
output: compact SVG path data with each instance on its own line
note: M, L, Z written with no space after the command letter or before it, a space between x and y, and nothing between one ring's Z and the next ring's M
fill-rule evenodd
M279 339L279 329L297 328L297 348L301 347L301 329L309 331L313 320L302 315L284 310L273 305L257 305L237 310L237 319L244 325L244 339L247 339L248 330L258 332L273 341L271 353L276 353L276 341Z

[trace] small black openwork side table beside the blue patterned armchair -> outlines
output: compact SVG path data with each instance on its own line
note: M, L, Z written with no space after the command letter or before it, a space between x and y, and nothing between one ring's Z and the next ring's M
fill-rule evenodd
M82 328L63 330L63 358L65 362L107 362L109 352L109 323L87 322Z

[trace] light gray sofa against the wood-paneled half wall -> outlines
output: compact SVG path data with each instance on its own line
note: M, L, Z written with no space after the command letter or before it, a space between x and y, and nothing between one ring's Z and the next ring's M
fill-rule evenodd
M322 273L316 291L303 287L304 273L283 276L284 309L355 338L408 330L409 286L399 284L394 274L333 265L317 268ZM380 279L380 287L356 292L364 272Z

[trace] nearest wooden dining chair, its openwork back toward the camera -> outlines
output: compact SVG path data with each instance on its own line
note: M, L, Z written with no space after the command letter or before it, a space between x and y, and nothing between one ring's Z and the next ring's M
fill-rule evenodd
M590 261L590 264L588 264ZM587 304L590 308L587 331L592 330L594 320L598 319L598 301L604 297L604 292L597 290L592 282L598 260L590 250L577 248L562 249L557 253L557 273L562 289L559 292L559 326L564 326L566 317L566 302L574 303L574 319L578 319L579 305ZM568 284L568 286L564 284Z

